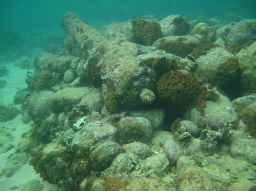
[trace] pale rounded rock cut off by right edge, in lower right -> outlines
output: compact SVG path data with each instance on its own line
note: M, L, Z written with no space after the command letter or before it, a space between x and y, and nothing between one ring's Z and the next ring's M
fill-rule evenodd
M230 152L234 158L247 160L256 165L256 140L238 138L232 140Z

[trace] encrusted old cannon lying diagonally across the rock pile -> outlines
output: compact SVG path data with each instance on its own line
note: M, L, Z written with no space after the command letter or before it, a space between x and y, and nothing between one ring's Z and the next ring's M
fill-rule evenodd
M145 99L155 97L155 71L141 63L114 41L108 40L76 14L67 13L62 18L62 27L79 45L89 76L93 83L102 84L105 107L115 112L140 106ZM141 90L149 89L148 95ZM141 96L148 96L148 99Z

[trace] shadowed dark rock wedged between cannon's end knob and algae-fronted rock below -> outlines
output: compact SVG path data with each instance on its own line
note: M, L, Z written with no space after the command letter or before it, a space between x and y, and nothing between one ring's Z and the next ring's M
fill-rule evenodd
M159 130L163 127L165 111L159 108L150 110L137 110L132 111L130 114L132 117L145 117L151 121L153 130Z

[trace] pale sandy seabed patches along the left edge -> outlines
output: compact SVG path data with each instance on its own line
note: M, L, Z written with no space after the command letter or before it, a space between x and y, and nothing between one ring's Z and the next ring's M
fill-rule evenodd
M22 57L20 59L34 60L34 58L27 57ZM20 62L20 60L17 60L15 62ZM7 77L0 77L0 80L5 79L7 81L6 86L0 89L0 102L3 104L13 103L13 96L16 94L17 90L27 87L27 84L25 82L25 79L27 77L27 69L20 69L20 67L16 67L14 65L15 62L0 63L0 66L6 66L7 70L9 71ZM20 105L15 106L17 108L20 108ZM18 115L15 119L11 121L0 122L0 127L3 126L6 127L5 130L13 137L13 141L11 141L11 143L14 146L16 146L20 141L21 135L25 132L28 132L30 129L30 124L23 124L23 122L21 121L21 115ZM12 129L13 127L15 128L15 130ZM14 149L11 149L7 153L0 153L0 191L10 191L9 188L19 187L20 185L31 179L40 180L41 184L44 185L42 191L57 190L56 186L43 182L39 174L36 174L33 167L30 166L28 163L22 166L20 170L15 172L12 177L6 178L2 174L2 169L7 160L7 156L13 153L13 151Z

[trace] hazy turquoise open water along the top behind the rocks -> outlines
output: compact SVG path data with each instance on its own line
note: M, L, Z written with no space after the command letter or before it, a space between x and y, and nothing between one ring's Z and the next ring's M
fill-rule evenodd
M0 0L0 26L20 32L60 29L61 17L67 12L77 13L98 28L142 15L225 19L234 13L243 19L256 18L255 10L256 0Z

